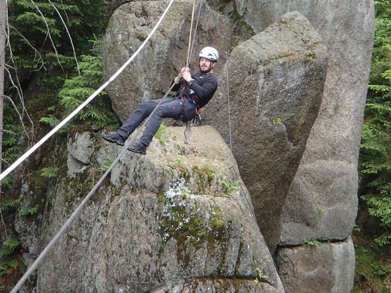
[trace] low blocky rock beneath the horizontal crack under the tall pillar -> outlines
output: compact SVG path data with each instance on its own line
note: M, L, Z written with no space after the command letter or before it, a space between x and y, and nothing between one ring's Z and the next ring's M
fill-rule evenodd
M278 248L275 259L286 292L348 293L353 288L355 256L350 237L343 242Z

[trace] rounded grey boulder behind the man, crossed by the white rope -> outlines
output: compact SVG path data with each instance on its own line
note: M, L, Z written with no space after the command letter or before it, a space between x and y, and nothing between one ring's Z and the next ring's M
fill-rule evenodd
M163 97L185 65L192 4L191 0L174 1L149 43L108 86L113 109L122 122L141 102ZM102 42L105 79L109 79L139 48L167 5L168 1L130 2L113 13ZM201 10L192 51L192 71L198 71L196 57L203 47L213 45L224 52L228 51L230 43L228 18L216 13L206 2ZM196 16L197 11L195 19Z

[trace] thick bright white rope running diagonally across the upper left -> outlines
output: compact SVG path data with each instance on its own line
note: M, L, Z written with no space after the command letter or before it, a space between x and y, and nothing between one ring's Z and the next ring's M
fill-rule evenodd
M152 37L153 33L156 31L157 27L159 26L160 22L163 20L163 18L166 16L169 8L173 4L174 0L171 0L168 4L166 10L164 11L163 15L160 17L159 21L157 21L155 27L152 29L151 33L145 39L145 41L141 44L141 46L137 49L136 52L130 57L130 59L122 65L120 69L101 87L99 87L82 105L78 106L72 113L69 114L68 117L66 117L58 126L54 127L48 134L46 134L38 143L36 143L34 146L32 146L28 151L26 151L18 160L16 160L10 167L4 170L0 174L0 181L4 179L5 176L7 176L9 173L11 173L16 167L18 167L22 162L31 155L38 147L42 146L45 141L47 141L54 133L56 133L61 127L63 127L66 123L69 122L74 116L76 116L77 113L79 113L89 102L91 102L106 86L108 86L124 69L126 66L129 65L130 62L133 61L133 59L137 56L137 54L141 51L141 49L145 46L145 44L148 42L148 40Z

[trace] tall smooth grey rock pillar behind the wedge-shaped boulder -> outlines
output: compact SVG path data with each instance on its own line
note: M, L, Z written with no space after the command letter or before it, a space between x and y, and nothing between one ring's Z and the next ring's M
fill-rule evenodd
M324 100L284 202L280 243L346 239L357 212L357 160L374 33L373 1L235 2L256 32L287 11L300 11L328 48Z

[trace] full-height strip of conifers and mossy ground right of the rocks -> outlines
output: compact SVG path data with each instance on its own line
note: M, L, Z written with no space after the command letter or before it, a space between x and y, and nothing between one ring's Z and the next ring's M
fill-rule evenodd
M354 293L386 293L391 288L391 2L379 0L374 4L375 39L359 157L364 187L359 213L365 219L378 218L374 223L379 224L371 224L370 229L356 225L353 230ZM365 221L369 222L373 219Z

